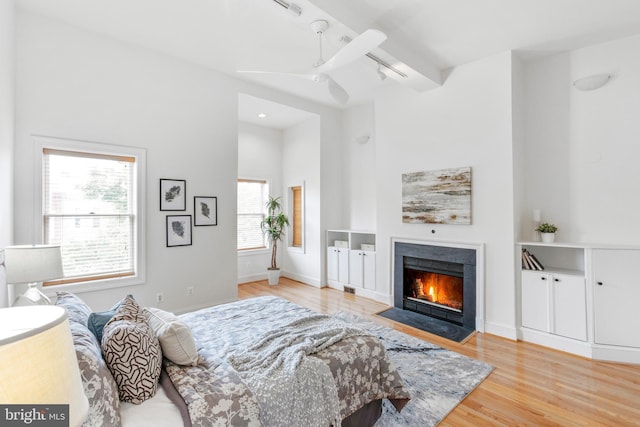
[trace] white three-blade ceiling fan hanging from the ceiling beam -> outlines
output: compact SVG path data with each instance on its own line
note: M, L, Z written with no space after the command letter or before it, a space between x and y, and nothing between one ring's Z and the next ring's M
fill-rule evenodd
M329 94L339 104L346 104L349 101L349 94L340 86L328 73L337 70L353 61L356 61L362 57L365 57L370 51L377 48L387 39L386 34L382 31L369 29L360 34L353 40L351 40L342 49L336 52L328 60L322 58L322 36L324 32L329 28L329 22L324 19L319 19L311 23L311 29L318 35L318 43L320 48L320 56L313 68L299 72L299 73L287 73L277 71L238 71L239 73L252 73L252 74L277 74L286 75L306 80L311 80L316 83L327 84Z

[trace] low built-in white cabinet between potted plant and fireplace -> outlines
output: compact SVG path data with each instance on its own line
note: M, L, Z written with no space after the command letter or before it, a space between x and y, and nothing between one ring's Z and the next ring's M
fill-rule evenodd
M327 284L356 293L376 289L376 235L365 231L327 231ZM372 296L372 295L368 295Z

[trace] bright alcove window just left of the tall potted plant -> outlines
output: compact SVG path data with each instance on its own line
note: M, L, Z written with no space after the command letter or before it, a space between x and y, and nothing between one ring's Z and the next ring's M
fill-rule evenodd
M265 180L238 180L238 250L266 248L260 223L265 216L269 184Z

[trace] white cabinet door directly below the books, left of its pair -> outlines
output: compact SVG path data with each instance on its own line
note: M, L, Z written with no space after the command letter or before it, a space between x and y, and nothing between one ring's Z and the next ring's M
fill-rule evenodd
M550 332L550 280L546 273L522 272L522 326Z

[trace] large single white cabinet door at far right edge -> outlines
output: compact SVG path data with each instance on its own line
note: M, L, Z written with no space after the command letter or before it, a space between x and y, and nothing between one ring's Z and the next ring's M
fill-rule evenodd
M640 347L640 250L593 251L595 342Z

